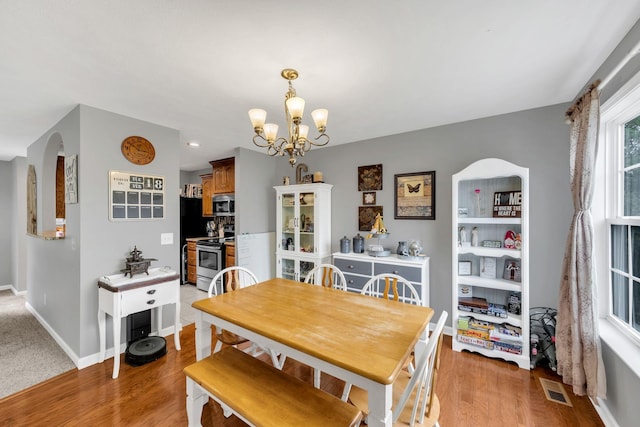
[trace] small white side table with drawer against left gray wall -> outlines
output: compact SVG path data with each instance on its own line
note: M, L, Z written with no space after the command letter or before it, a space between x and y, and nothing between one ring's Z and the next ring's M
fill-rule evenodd
M120 371L121 319L132 313L154 309L156 332L162 330L162 306L175 304L173 327L176 350L180 350L180 275L167 268L150 268L149 274L126 277L124 274L103 276L98 280L98 330L100 334L100 363L106 353L107 314L113 319L113 375Z

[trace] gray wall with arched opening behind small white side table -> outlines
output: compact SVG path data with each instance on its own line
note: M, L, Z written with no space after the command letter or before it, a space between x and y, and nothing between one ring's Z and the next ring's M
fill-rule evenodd
M54 134L62 138L65 155L78 155L79 203L67 205L65 239L28 239L28 300L71 351L82 358L97 353L99 348L96 316L99 277L124 268L125 258L134 245L143 251L143 256L158 259L152 266L179 268L175 256L179 244L179 133L78 106L29 147L28 163L36 165L40 171L38 177L43 175L45 146ZM122 156L120 144L130 135L144 136L153 143L156 151L153 162L139 166ZM164 176L165 218L109 221L110 170ZM41 200L40 190L38 200ZM40 205L38 212L40 218ZM40 225L38 230L42 231ZM173 233L174 244L161 246L161 233ZM173 322L173 308L165 308L163 320L165 325ZM107 346L111 345L108 339Z

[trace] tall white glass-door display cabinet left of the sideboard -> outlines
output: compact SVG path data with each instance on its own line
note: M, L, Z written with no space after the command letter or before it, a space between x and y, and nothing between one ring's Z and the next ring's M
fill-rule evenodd
M276 190L276 275L303 281L313 266L331 259L331 184Z

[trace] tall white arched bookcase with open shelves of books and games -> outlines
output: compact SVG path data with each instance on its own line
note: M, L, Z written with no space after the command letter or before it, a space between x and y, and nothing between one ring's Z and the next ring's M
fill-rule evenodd
M529 369L529 170L483 159L452 179L452 347Z

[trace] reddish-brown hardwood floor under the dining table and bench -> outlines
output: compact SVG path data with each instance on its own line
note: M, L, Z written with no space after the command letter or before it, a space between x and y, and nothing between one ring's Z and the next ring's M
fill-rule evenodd
M194 325L181 333L182 350L167 337L166 356L139 367L124 363L111 379L113 359L64 373L0 400L0 426L186 426L185 379L182 369L195 362ZM550 370L519 369L472 353L455 353L445 337L437 392L440 425L451 426L603 426L590 401L569 387L573 407L548 401L539 377L558 380ZM266 359L265 359L266 360ZM309 367L287 359L284 369L309 383ZM322 388L340 395L343 383L323 374ZM210 401L203 426L243 426L225 419Z

